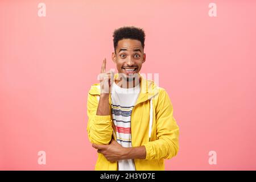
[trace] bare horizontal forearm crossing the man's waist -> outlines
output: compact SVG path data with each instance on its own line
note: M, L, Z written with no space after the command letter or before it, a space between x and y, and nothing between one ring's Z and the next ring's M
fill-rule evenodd
M123 148L121 159L145 159L145 146Z

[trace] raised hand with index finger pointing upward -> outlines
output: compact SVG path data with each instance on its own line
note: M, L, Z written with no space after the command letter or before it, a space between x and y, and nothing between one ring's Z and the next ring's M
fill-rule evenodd
M100 73L101 94L110 93L113 79L114 79L113 69L110 69L110 71L106 72L106 58L105 58L101 65L101 73Z

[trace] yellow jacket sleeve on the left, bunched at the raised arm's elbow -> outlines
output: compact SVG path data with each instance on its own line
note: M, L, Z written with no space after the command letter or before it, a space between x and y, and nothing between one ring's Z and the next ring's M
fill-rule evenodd
M112 139L112 119L110 115L97 115L97 95L88 94L87 100L87 133L91 143L109 144Z

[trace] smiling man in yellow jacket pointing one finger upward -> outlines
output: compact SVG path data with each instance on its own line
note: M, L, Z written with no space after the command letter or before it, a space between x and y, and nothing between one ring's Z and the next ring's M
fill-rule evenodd
M177 155L179 127L167 92L139 71L146 61L141 28L114 31L112 60L118 73L106 72L89 90L88 137L97 149L96 170L164 170Z

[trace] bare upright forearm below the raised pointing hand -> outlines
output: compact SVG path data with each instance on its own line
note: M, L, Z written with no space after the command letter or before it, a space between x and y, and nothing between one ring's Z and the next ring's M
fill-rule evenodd
M109 94L102 93L100 95L100 101L98 102L98 108L96 115L109 115Z

